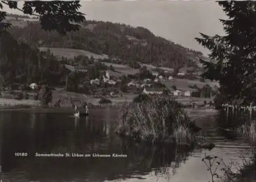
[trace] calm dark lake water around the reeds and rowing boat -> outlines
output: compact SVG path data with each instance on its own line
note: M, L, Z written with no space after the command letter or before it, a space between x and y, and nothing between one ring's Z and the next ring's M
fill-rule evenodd
M90 117L74 118L72 111L0 111L2 181L172 181L206 182L201 161L214 154L225 162L237 160L248 146L232 131L241 119L224 119L216 111L188 110L210 136L212 150L185 151L176 146L130 144L114 133L117 110L93 110ZM237 117L240 118L240 117ZM15 157L27 152L27 157ZM35 157L35 153L126 154L126 158Z

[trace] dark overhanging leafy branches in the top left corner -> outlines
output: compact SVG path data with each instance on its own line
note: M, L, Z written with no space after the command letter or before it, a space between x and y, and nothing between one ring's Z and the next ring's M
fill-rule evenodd
M1 1L0 9L3 9L3 4L24 14L37 16L42 29L56 30L63 35L80 28L79 24L71 22L82 23L85 20L84 14L78 12L81 7L79 1L26 1L22 8L17 7L17 2ZM5 17L6 12L0 11L0 31L7 30L11 26L10 23L3 22Z

